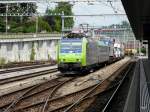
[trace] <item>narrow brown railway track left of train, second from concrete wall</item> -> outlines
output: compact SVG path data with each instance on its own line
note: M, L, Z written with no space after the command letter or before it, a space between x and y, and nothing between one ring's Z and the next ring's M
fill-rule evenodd
M58 71L58 69L54 68L54 69L49 69L49 70L44 70L44 71L39 71L39 72L34 72L34 73L29 73L29 74L23 74L21 76L8 77L5 79L0 79L0 85L27 79L27 78L37 77L40 75L45 75L45 74L49 74L49 73L53 73L53 72L57 72L57 71Z

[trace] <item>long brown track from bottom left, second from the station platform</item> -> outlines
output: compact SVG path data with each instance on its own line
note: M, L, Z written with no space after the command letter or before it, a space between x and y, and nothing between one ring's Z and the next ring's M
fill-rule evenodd
M66 95L54 95L54 97L50 98L47 100L46 103L46 108L43 109L43 105L45 104L45 101L39 101L39 102L35 102L32 104L26 103L26 104L20 104L20 106L16 106L14 108L13 111L15 112L21 112L21 111L33 111L34 112L57 112L57 111L70 111L70 109L72 109L72 107L74 107L76 105L76 103L79 103L80 101L82 101L82 99L87 99L89 97L93 97L99 93L104 92L107 87L112 83L112 81L121 73L121 71L123 69L125 69L125 67L127 67L128 64L126 66L124 66L123 68L119 69L119 71L117 71L117 73L111 75L110 77L108 77L107 79L100 81L98 84L90 86L88 88L84 88L82 90L73 92L73 93L69 93ZM70 107L71 106L71 107ZM67 109L67 110L66 110Z

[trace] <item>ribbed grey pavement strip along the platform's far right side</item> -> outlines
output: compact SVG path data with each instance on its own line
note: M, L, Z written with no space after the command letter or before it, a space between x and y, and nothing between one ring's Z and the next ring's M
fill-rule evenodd
M150 112L150 60L140 59L140 112Z

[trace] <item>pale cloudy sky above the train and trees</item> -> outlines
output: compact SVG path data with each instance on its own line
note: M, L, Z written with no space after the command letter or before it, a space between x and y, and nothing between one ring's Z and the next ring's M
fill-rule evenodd
M43 1L43 0L42 0ZM50 8L54 8L54 3L47 2L39 2L38 4L38 12L44 13L47 6ZM112 3L113 8L110 3L107 2L94 2L93 5L89 5L88 3L78 2L73 5L73 13L75 15L99 15L99 14L115 14L117 11L118 14L125 14L124 8L121 2ZM90 26L107 26L111 24L118 24L121 21L127 20L126 15L122 16L92 16L92 17L75 17L75 27L77 27L81 23L88 23Z

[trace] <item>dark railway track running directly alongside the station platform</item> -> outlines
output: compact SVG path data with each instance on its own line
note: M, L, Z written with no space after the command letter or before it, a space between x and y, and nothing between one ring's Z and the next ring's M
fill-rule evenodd
M134 64L131 64L130 67L125 71L125 73L121 74L121 76L117 76L117 80L111 84L105 91L103 92L95 92L97 91L97 87L93 88L91 91L89 91L87 94L82 96L80 99L78 99L76 102L74 102L72 105L68 107L63 107L61 110L57 111L63 111L63 112L111 112L111 104L114 103L112 100L116 97L117 92L121 88L122 84L124 83L125 79L127 78L127 75L131 71L132 67ZM128 80L128 79L127 79ZM100 96L100 98L97 98L97 96ZM97 103L99 105L96 107L96 104L94 105L95 107L91 109L87 109L90 107L93 102L97 100ZM98 109L95 109L98 108Z

